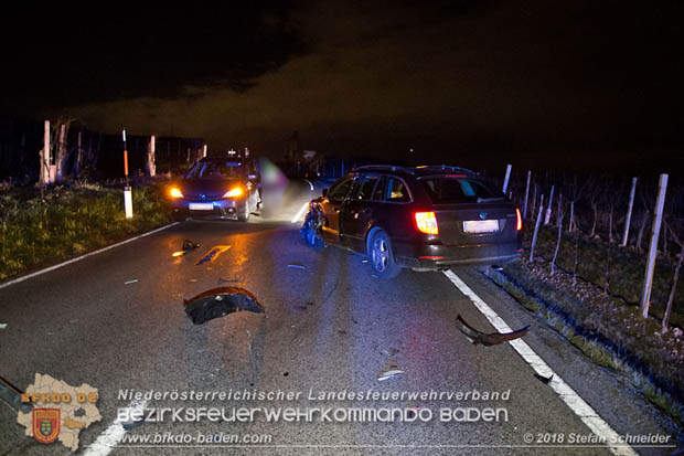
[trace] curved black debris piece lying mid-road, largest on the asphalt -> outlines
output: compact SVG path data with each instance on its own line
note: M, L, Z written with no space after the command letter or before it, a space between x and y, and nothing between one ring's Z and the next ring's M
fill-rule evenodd
M244 288L218 287L212 288L197 296L185 299L185 314L195 325L202 325L214 318L224 317L235 311L248 310L263 314L257 298Z

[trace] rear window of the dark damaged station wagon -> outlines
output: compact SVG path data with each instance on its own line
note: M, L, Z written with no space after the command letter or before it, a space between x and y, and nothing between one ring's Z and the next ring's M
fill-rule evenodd
M503 194L473 179L440 177L425 179L423 183L435 204L504 200Z

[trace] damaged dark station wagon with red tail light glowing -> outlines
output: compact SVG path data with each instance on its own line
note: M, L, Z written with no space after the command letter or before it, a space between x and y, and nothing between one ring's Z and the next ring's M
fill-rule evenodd
M400 268L491 265L521 254L520 210L475 172L458 167L354 169L309 203L308 244L340 245L371 258L375 274Z

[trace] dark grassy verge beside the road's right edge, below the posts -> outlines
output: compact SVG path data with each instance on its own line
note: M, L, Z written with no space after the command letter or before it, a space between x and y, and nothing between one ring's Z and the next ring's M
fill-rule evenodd
M599 365L628 375L653 404L684 424L684 337L660 332L639 309L586 280L551 275L546 262L519 261L485 274Z

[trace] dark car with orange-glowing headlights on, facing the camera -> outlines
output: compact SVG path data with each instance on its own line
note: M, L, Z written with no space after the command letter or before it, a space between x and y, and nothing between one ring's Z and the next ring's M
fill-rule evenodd
M253 159L203 158L169 188L177 221L192 219L249 220L261 209L261 180Z

